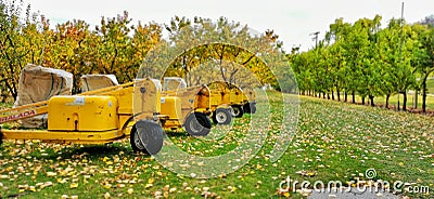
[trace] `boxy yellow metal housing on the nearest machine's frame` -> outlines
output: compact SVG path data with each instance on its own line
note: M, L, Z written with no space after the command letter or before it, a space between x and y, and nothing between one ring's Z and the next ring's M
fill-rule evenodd
M114 96L54 96L49 101L49 131L107 131L119 128Z

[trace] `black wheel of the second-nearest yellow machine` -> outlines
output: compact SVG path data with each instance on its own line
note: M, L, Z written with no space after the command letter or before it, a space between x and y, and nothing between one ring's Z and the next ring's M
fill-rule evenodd
M203 112L190 114L183 124L187 133L192 136L206 136L210 131L210 120Z

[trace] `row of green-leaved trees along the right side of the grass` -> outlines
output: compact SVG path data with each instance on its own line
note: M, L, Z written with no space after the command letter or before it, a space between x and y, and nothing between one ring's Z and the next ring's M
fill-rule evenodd
M356 95L374 106L375 96L421 91L426 107L426 80L434 70L434 16L405 24L392 18L381 28L380 15L350 24L337 18L326 37L307 52L288 54L302 94L355 103ZM341 96L343 95L343 96Z

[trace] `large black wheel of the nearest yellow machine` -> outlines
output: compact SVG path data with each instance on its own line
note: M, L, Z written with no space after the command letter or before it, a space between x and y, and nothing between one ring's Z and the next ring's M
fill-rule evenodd
M129 141L135 152L156 155L163 147L163 128L150 120L139 120L132 125Z

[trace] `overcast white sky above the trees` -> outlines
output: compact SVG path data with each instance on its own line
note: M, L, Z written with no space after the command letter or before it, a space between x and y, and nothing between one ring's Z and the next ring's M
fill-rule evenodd
M142 23L169 23L175 15L202 16L217 19L225 16L229 21L247 24L264 32L273 29L290 51L294 45L302 50L315 45L311 32L320 31L320 38L337 17L355 22L361 17L383 16L385 25L392 17L399 18L403 0L25 0L34 11L40 11L51 24L68 19L84 19L93 28L101 16L113 17L128 11L130 17ZM406 0L404 17L407 22L418 22L434 14L434 0Z

